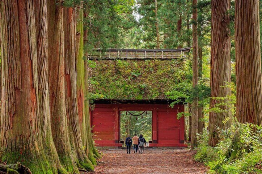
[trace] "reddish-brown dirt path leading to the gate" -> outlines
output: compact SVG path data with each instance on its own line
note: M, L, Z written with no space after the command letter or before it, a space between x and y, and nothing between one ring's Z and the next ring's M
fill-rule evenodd
M132 149L131 149L132 150ZM102 150L102 164L94 174L204 174L207 169L193 160L194 152L187 149L146 148L145 153L126 154L124 149Z

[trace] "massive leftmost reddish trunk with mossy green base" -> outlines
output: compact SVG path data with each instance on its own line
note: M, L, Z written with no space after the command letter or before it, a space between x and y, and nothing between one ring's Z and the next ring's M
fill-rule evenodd
M0 159L22 161L32 173L52 173L41 140L33 1L2 1L0 13Z

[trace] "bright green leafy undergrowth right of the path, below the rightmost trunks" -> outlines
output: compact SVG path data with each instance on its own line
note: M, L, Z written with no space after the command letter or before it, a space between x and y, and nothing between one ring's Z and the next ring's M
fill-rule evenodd
M256 129L256 131L254 131ZM238 137L238 149L229 149L233 139ZM262 129L249 123L235 122L229 129L220 130L221 141L214 147L209 147L206 131L198 136L199 145L195 159L210 167L210 173L261 173L262 163ZM234 158L228 152L235 151Z

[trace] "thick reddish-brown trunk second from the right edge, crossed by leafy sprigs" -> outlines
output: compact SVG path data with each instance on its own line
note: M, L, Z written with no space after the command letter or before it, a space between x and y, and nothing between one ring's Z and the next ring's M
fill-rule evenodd
M229 13L230 0L213 0L211 4L211 67L210 67L210 87L211 97L226 97L230 95L230 38ZM210 100L210 108L220 103L218 99ZM228 100L223 101L228 103ZM230 117L230 108L220 106L220 109L228 112L209 112L209 146L218 143L217 128L224 129L223 120Z

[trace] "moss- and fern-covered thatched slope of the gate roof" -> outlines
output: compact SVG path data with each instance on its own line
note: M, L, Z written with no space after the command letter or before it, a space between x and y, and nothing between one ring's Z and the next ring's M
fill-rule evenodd
M165 94L185 79L185 61L90 60L89 91L104 99L167 99Z

